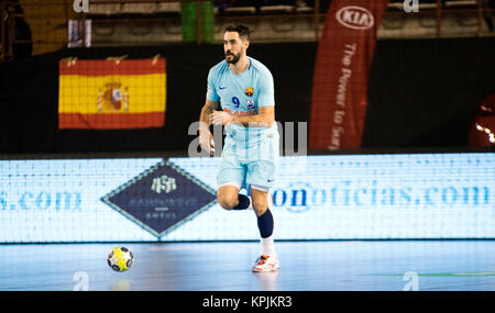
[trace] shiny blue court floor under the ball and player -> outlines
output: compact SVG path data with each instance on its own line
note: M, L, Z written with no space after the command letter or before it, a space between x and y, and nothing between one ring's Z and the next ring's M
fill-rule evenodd
M114 272L114 246L134 254ZM253 273L258 243L0 245L0 290L493 291L494 241L279 242L277 273Z

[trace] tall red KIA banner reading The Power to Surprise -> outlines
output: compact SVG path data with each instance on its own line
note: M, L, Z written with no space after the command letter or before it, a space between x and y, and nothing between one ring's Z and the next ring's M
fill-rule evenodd
M361 147L376 30L388 0L333 0L318 46L310 149Z

